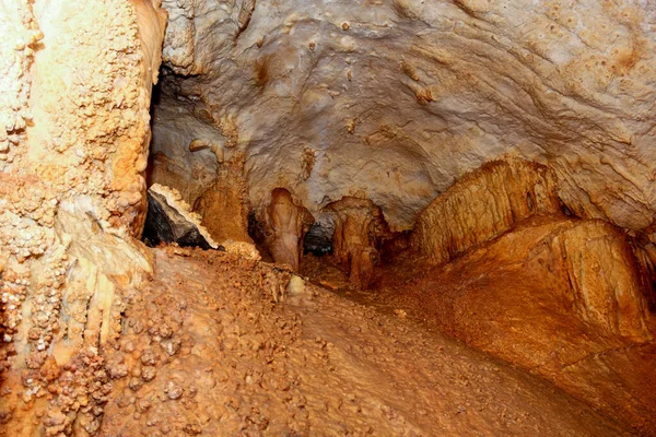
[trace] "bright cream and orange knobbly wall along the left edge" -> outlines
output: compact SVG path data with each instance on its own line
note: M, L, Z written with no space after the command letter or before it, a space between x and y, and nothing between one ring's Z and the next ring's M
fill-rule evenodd
M150 0L0 5L0 362L8 435L86 435L124 293L165 14ZM9 140L9 141L8 141Z

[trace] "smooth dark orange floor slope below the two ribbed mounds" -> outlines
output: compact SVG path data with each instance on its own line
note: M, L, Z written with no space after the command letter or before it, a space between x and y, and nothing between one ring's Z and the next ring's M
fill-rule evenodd
M304 273L380 317L420 326L434 339L457 339L552 382L640 435L656 435L656 342L631 342L573 315L558 290L564 287L558 268L534 262L531 249L553 224L539 225L445 265L402 253L378 267L365 291L349 287L330 257L306 256ZM649 322L656 332L654 317Z

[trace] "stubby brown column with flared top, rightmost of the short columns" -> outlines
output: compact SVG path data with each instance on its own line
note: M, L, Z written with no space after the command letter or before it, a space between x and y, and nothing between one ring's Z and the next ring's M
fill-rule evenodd
M335 213L335 258L354 286L366 288L379 259L380 239L389 234L380 209L368 199L351 197L326 209Z

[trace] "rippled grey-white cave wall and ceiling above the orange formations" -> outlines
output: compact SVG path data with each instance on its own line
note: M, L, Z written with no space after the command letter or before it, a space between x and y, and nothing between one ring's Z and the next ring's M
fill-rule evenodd
M313 213L364 190L407 228L455 178L511 153L550 165L579 215L630 229L653 222L656 10L646 2L164 7L164 60L188 75L165 81L188 105L176 117L212 126L177 134L245 149L255 205L277 186Z

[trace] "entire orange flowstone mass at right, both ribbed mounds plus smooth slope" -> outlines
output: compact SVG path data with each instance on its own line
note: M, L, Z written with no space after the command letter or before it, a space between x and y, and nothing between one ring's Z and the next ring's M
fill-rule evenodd
M557 190L547 168L515 160L467 175L420 214L376 299L651 435L656 319L643 250L608 222L561 213Z

